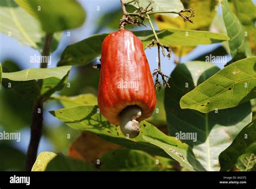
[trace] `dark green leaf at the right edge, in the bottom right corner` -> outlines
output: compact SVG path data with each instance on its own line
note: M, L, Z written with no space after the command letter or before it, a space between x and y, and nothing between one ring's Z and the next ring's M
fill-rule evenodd
M256 152L256 121L246 125L235 137L233 143L220 153L220 171L231 170L240 156ZM255 156L255 154L254 154ZM256 159L254 159L256 161ZM255 162L254 162L255 163Z

